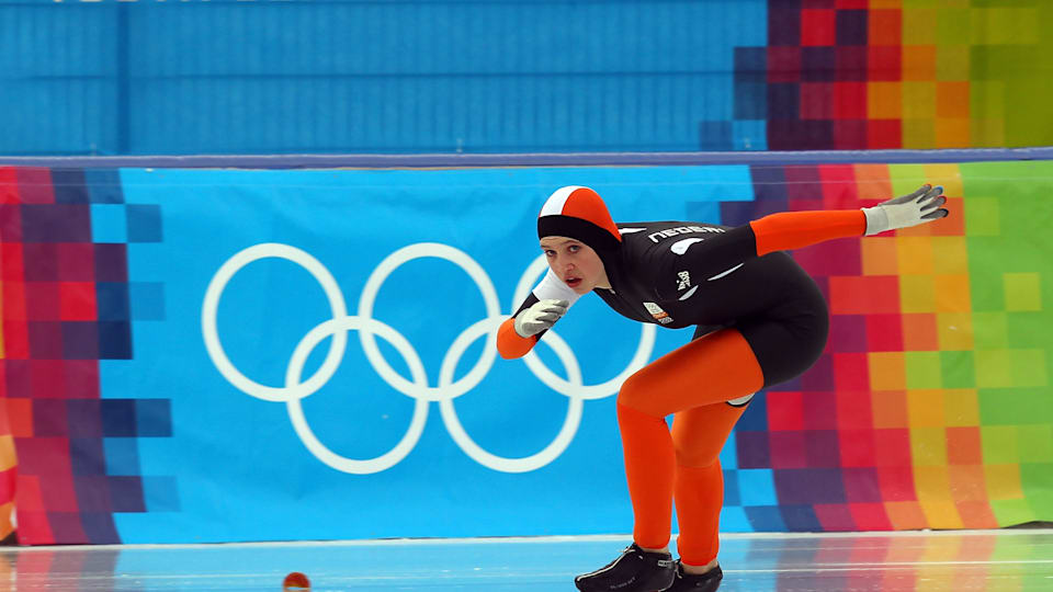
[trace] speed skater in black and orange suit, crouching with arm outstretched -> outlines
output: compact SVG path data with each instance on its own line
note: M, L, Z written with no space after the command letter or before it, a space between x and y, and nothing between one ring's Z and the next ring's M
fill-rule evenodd
M633 320L697 327L688 344L619 390L633 544L608 566L575 578L578 590L717 589L721 448L755 392L801 375L826 346L823 295L783 251L946 217L942 193L924 185L874 207L786 212L738 227L614 224L600 196L581 186L548 197L537 217L548 272L501 325L501 357L525 355L588 292ZM676 561L669 553L673 502Z

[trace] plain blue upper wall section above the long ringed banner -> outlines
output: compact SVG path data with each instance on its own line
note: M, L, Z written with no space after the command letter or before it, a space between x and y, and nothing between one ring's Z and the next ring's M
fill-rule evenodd
M765 149L766 39L766 0L4 2L0 153Z

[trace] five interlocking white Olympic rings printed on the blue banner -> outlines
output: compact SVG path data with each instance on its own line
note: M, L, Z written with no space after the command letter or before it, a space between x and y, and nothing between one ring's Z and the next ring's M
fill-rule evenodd
M285 371L285 385L282 387L262 385L241 374L227 357L216 328L219 299L227 283L246 265L270 258L285 259L310 273L325 292L329 308L332 311L331 319L321 322L301 339L288 361ZM467 272L483 295L487 315L486 318L473 323L453 340L442 360L439 380L435 386L428 385L423 364L409 341L390 326L373 318L376 295L385 280L404 263L422 258L443 259ZM539 257L531 263L516 287L508 315L516 309L519 303L523 301L546 269L547 263L544 255ZM654 350L655 326L650 323L643 326L639 344L625 369L614 378L596 385L585 385L582 383L581 368L574 352L555 331L550 330L545 334L544 341L564 365L568 379L553 373L534 352L524 356L523 361L542 383L569 399L567 415L559 433L544 449L522 458L508 458L485 451L472 440L461 424L453 402L457 397L475 388L483 380L483 377L489 373L497 356L497 329L508 315L501 315L497 292L483 267L465 252L448 244L421 242L404 247L388 255L376 266L365 282L362 297L359 299L358 315L348 315L343 294L340 292L336 280L317 259L288 244L262 243L236 253L216 271L205 291L201 310L201 331L208 356L219 374L246 395L264 401L284 402L293 429L304 446L316 458L333 469L366 475L380 473L397 465L417 445L428 420L430 403L434 401L439 403L439 411L450 436L472 459L494 470L525 473L544 467L563 454L577 433L586 400L601 399L618 392L622 383L647 363ZM375 458L347 458L329 449L312 431L301 405L303 399L317 392L336 374L337 367L343 360L348 343L348 331L358 331L367 361L384 382L416 401L409 428L403 439L390 451ZM332 337L332 339L325 361L314 375L304 379L304 364L307 357L328 337ZM406 366L409 368L409 378L395 372L387 363L377 348L377 337L392 344L403 356ZM486 342L479 360L466 375L454 379L454 371L461 361L461 356L472 343L480 338L485 338Z

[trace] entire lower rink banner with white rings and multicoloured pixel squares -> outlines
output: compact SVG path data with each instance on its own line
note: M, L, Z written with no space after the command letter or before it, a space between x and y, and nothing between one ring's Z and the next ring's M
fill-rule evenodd
M543 269L544 197L739 225L925 182L947 219L794 252L829 343L743 415L722 528L1053 520L1053 162L4 168L0 534L12 504L31 545L630 532L610 380L646 329L582 298L544 360L586 385L567 396L485 352L479 321ZM657 329L647 358L689 337Z

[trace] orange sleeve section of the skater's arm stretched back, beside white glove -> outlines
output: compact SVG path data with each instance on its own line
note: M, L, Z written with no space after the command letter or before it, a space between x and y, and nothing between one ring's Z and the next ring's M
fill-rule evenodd
M867 215L862 209L782 212L752 220L749 226L757 237L757 255L760 257L825 240L862 237L867 231Z

